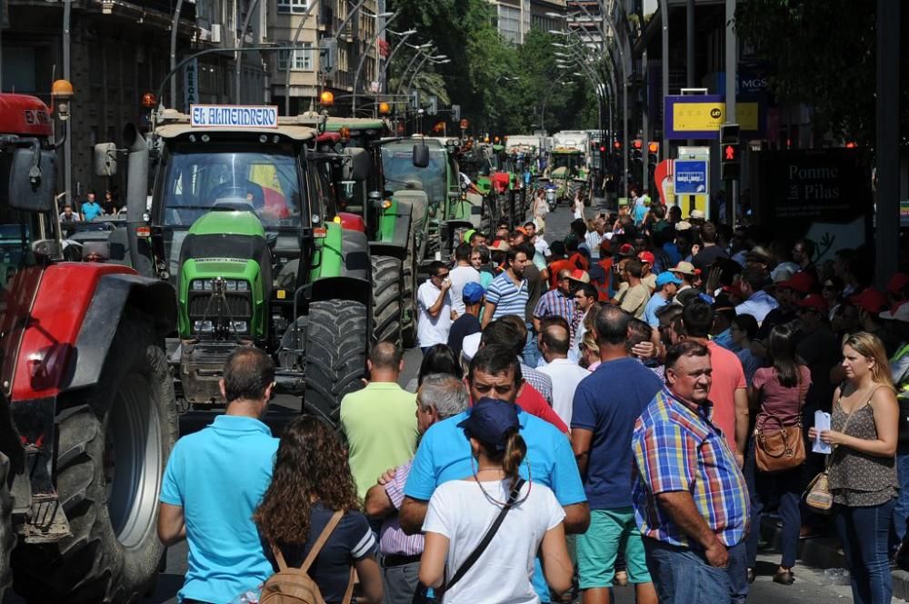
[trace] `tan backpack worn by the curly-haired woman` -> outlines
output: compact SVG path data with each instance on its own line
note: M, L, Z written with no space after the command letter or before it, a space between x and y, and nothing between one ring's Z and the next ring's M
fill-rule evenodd
M325 599L322 598L319 586L315 584L315 581L310 578L306 571L313 565L315 558L325 545L325 541L331 536L332 531L335 530L343 516L343 511L336 511L331 520L328 520L325 530L319 535L319 539L315 540L313 549L309 550L309 554L306 555L303 566L298 569L288 568L284 554L274 543L272 544L272 552L275 554L275 561L278 563L278 571L269 577L262 586L259 604L325 604ZM344 600L342 600L344 604L349 604L353 595L354 567L352 566L350 568L350 582L347 584L347 591L344 595Z

